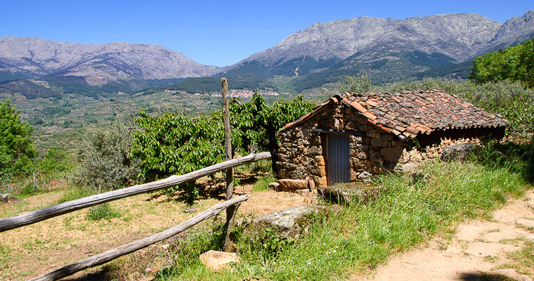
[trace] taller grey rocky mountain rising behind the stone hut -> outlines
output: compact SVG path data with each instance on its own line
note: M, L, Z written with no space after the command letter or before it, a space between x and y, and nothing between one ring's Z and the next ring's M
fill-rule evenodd
M449 69L463 77L467 68L447 66L533 37L534 11L504 24L476 13L316 22L233 65L225 76L258 80L259 71L266 78L296 77L293 83L303 85L297 89L337 81L341 74L360 70L370 72L375 83L417 77L434 67L441 67L435 73Z

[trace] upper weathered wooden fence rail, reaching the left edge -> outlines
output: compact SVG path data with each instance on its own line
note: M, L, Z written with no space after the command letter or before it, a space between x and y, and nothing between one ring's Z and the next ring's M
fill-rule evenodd
M232 159L226 162L215 164L213 166L208 166L204 169L193 171L191 173L184 174L181 176L170 176L169 178L164 178L160 181L154 181L152 183L134 185L130 188L122 188L119 190L113 190L110 192L100 193L98 195L93 195L93 196L89 196L89 197L85 197L85 198L81 198L77 200L72 200L72 201L57 204L55 206L51 206L48 208L40 209L37 211L32 211L30 213L22 214L20 216L4 218L3 220L0 220L0 233L6 230L20 228L22 226L27 226L32 223L37 223L39 221L44 221L48 218L53 218L55 216L67 214L72 211L77 211L79 209L84 209L84 208L95 206L98 204L103 204L105 202L118 200L124 197L130 197L133 195L139 195L145 192L151 192L155 190L169 188L171 186L179 185L181 183L193 181L197 178L202 178L203 176L209 176L211 174L215 174L218 171L224 171L226 169L230 169L235 166L257 162L261 159L268 159L268 158L271 158L271 152L261 152L258 154L252 154L252 155L248 155L245 157L240 157L237 159Z

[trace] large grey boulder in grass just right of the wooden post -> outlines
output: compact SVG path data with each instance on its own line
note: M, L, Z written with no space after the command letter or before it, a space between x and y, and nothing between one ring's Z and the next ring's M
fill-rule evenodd
M280 239L297 239L309 233L310 214L324 211L324 206L301 206L275 211L259 218L254 218L247 226L247 232L264 233L271 229L273 235Z

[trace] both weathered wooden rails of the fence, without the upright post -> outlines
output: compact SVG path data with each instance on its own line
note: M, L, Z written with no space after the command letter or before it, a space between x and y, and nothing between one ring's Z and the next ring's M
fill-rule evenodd
M67 214L72 211L77 211L79 209L84 209L84 208L95 206L98 204L103 204L105 202L119 200L124 197L139 195L145 192L162 190L164 188L169 188L171 186L179 185L181 183L193 181L197 178L202 178L203 176L209 176L211 174L215 174L218 171L224 171L226 169L230 169L235 166L240 166L242 164L247 164L247 163L252 163L252 162L258 162L259 160L268 159L268 158L271 158L270 152L261 152L255 155L248 155L245 157L240 157L237 159L232 159L226 162L215 164L213 166L208 166L204 169L193 171L189 174L185 174L181 176L171 176L169 178L165 178L160 181L154 181L152 183L145 183L142 185L135 185L130 188L123 188L120 190L113 190L113 191L101 193L98 195L84 197L78 200L64 202L64 203L57 204L52 207L40 209L38 211L32 211L27 214L22 214L20 216L4 218L3 220L0 220L0 233L7 231L7 230L20 228L22 226L27 226L32 223L37 223L39 221L44 221L48 218L53 218L55 216ZM77 273L80 270L84 270L86 268L91 268L94 266L99 266L103 263L107 263L108 261L117 259L119 256L130 254L133 251L138 251L139 249L143 249L145 247L150 246L151 244L165 240L171 236L181 233L183 230L186 230L192 226L195 226L197 223L200 223L201 221L206 220L207 218L211 218L212 216L219 214L221 211L223 211L224 209L230 206L234 206L235 204L248 200L248 198L249 198L249 195L242 195L240 197L232 198L225 202L221 202L219 204L216 204L214 207L211 207L211 209L208 209L207 211L204 211L201 214L198 214L197 216L190 218L188 221L185 221L179 224L178 226L174 226L173 228L164 230L161 233L157 233L150 237L146 237L143 240L132 242L130 244L126 244L121 247L117 247L115 249L105 251L102 254L98 254L96 256L91 256L87 259L83 259L82 261L71 263L68 266L55 270L51 273L47 273L46 275L41 275L32 280L58 280L60 278L67 277L69 275Z

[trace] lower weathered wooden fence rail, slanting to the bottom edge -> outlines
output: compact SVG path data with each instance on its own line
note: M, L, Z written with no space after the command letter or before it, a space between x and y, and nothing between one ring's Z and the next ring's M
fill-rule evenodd
M233 206L234 204L246 201L249 199L249 195L242 195L240 197L235 197L233 199L230 199L225 202L221 202L219 204L216 204L214 207L211 207L207 211L202 212L201 214L198 214L197 216L194 216L193 218L188 219L187 221L180 223L178 226L174 226L173 228L169 228L161 233L157 233L155 235L152 235L150 237L146 237L143 240L139 240L137 242L132 242L130 244L123 245L121 247L117 247L115 249L111 249L109 251L105 251L102 254L98 254L95 256L91 256L87 259L82 259L82 261L77 261L75 263L71 263L68 266L65 266L63 268L60 268L58 270L52 271L51 273L47 273L45 275L41 275L39 277L36 277L30 281L48 281L48 280L58 280L63 277L67 277L69 275L72 275L74 273L77 273L80 270L84 270L86 268L91 268L94 266L99 266L101 264L107 263L108 261L112 261L113 259L117 259L119 256L124 256L125 254L130 254L133 251L137 251L139 249L143 249L145 247L150 246L151 244L154 244L156 242L165 240L169 237L172 237L178 233L181 233L183 230L186 230L192 226L195 226L197 223L200 223L201 221L206 220L207 218L211 218L212 216L215 216L216 214L219 214L224 209Z

